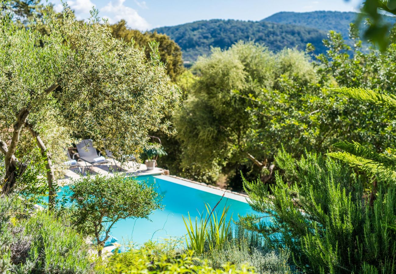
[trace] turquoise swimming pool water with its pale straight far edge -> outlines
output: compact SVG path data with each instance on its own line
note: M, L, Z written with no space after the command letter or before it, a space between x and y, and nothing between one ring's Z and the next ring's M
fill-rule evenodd
M156 210L150 214L150 220L126 219L115 223L111 234L122 243L132 241L135 244L143 244L148 240L162 241L184 237L186 228L182 216L187 217L190 213L191 219L199 217L199 213L206 210L205 203L213 208L223 194L221 190L165 175L139 176L137 179L157 188L157 191L163 196L164 209ZM59 196L62 196L63 191L68 188L68 186L62 188ZM243 216L253 213L246 199L236 194L226 192L216 211L223 210L224 205L230 205L228 216L230 217L232 214L234 220L238 219L238 214Z

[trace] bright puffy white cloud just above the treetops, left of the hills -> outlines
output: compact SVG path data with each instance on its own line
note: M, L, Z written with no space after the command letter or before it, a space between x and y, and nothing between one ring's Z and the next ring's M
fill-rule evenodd
M89 0L88 0L89 1ZM110 24L117 23L121 19L127 22L128 27L139 30L148 30L150 24L141 17L133 8L124 6L125 0L110 1L106 6L101 8L99 15L109 19Z

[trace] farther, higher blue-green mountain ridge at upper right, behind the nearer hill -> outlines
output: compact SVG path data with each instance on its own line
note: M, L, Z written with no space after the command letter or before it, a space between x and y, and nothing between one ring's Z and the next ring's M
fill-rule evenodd
M341 11L312 11L312 12L289 12L282 11L267 17L261 22L288 24L311 27L328 32L335 30L340 32L345 39L349 37L349 24L354 22L358 13ZM383 15L390 23L395 23L395 17Z

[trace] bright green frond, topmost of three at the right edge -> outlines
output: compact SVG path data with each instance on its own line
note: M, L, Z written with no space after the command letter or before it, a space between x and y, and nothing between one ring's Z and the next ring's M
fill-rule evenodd
M342 93L350 98L375 104L396 112L396 97L394 95L381 94L367 88L332 88L331 90Z

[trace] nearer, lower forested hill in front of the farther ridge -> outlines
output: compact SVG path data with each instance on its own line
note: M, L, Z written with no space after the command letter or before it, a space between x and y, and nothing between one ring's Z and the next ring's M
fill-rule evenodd
M310 27L231 19L196 21L152 31L175 40L185 61L195 61L199 55L209 54L211 46L226 49L239 40L264 43L272 51L285 47L304 50L307 43L312 43L317 52L323 52L322 39L326 38L326 32Z

